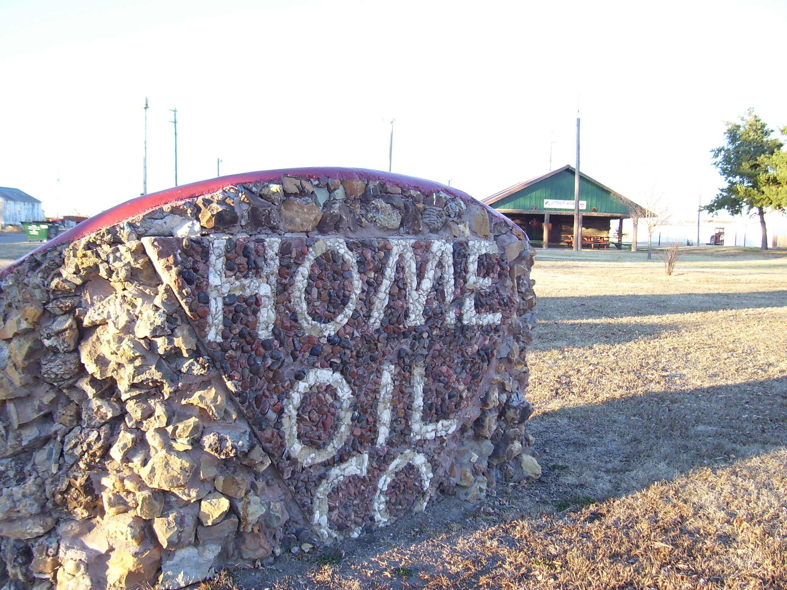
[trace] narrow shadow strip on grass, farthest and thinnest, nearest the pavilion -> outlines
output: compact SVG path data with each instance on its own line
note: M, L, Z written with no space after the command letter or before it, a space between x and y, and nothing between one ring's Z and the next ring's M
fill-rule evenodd
M779 308L787 305L787 290L750 293L680 293L669 295L591 295L539 297L538 319L629 318L728 309Z

